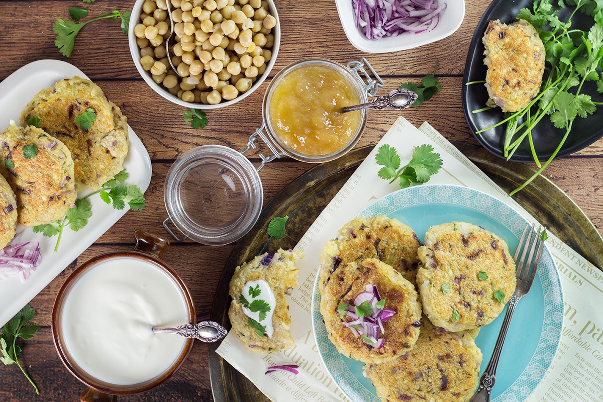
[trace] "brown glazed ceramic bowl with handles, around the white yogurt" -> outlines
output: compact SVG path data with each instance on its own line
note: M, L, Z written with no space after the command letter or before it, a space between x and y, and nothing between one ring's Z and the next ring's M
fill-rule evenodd
M65 301L75 283L77 283L77 281L83 277L83 275L89 272L93 267L98 266L99 263L106 262L109 259L122 259L124 257L134 258L144 262L145 264L159 268L173 281L173 284L177 287L177 289L182 292L186 309L188 310L188 322L196 324L197 316L195 313L195 306L186 284L180 275L166 265L165 262L160 260L163 251L169 247L169 242L165 239L161 239L142 231L136 231L134 236L136 236L136 248L134 249L136 251L117 251L114 253L107 253L93 257L92 259L83 263L71 275L69 275L65 283L63 283L61 289L58 291L57 298L54 302L54 307L52 308L52 338L57 349L58 356L69 372L71 372L71 374L73 374L78 380L89 387L83 392L83 394L81 394L81 401L114 400L109 395L137 394L139 392L145 392L151 388L155 388L156 386L168 380L168 378L171 377L177 371L177 369L180 368L180 366L182 366L182 363L185 361L186 356L188 356L188 353L192 348L193 340L190 338L186 339L182 352L177 359L174 360L171 366L166 367L165 371L159 375L156 375L154 378L148 378L148 380L145 380L144 382L131 385L115 385L93 377L93 375L90 375L84 369L82 369L69 353L68 347L66 346L63 338L61 324Z

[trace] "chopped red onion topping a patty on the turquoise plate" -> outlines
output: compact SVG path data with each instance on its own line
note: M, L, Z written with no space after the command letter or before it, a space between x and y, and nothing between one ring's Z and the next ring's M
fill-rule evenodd
M362 318L359 318L358 315L360 313L356 313L355 306L352 305L352 303L342 303L338 307L338 310L341 309L339 310L341 312L340 316L343 317L343 313L345 312L345 315L353 321L343 321L342 319L341 323L350 328L350 331L352 331L356 338L361 337L365 344L380 349L383 346L385 339L379 338L379 332L385 333L383 323L388 321L388 319L391 319L396 312L391 309L384 309L385 301L382 301L377 286L368 284L366 289L366 291L356 295L354 304L355 306L360 306L362 303L370 304L372 307L371 315L364 315Z

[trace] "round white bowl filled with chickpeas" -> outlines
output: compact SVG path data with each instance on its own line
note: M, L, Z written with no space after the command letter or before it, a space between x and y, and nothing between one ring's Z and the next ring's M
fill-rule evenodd
M280 24L273 0L137 0L128 37L134 64L155 92L213 109L240 101L268 77Z

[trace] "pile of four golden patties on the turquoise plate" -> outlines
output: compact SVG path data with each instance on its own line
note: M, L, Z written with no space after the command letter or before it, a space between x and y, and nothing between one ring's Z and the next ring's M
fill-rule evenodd
M416 283L418 299L407 279ZM340 353L367 363L365 374L383 401L468 401L482 362L475 336L500 314L515 284L504 240L464 222L429 228L421 245L396 219L357 218L321 254L321 313L329 339ZM350 330L359 327L350 324L355 310L346 309L370 286L386 309L396 311L382 322L384 342L378 345ZM421 307L426 316L419 318ZM416 322L393 329L396 315Z

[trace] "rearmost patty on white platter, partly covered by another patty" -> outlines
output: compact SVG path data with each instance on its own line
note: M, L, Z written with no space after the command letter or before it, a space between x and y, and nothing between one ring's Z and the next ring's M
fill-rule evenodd
M89 109L96 116L92 124L78 124L76 119ZM128 153L125 116L92 81L76 76L40 91L22 111L21 125L36 118L71 151L76 190L96 190L122 170Z

